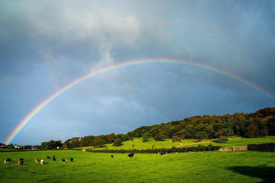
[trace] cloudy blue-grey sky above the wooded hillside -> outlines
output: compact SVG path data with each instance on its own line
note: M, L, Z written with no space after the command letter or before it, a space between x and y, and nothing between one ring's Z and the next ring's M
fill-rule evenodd
M274 1L0 1L0 142L275 107L274 17Z

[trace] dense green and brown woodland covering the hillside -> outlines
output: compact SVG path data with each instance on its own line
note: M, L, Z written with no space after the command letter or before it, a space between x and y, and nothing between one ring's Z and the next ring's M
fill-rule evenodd
M42 142L41 146L35 147L39 149L99 147L109 143L119 146L122 145L123 141L133 140L133 138L142 138L143 142L148 141L150 138L154 138L154 140L172 139L172 142L179 143L189 138L198 141L217 139L223 142L230 136L247 138L275 136L275 107L268 107L246 114L193 116L180 121L142 126L127 134L115 135L112 133L99 136L74 137L64 143L61 143L60 140L51 140Z

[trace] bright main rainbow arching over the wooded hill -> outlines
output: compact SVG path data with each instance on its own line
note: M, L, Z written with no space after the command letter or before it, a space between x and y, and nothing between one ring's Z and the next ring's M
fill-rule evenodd
M231 77L245 85L248 85L249 87L252 87L254 89L256 89L258 92L264 94L265 96L267 96L268 98L270 98L271 100L275 101L275 98L268 94L267 92L265 92L263 89L260 89L259 87L257 87L256 85L250 83L249 81L246 81L236 75L233 75L227 71L212 67L212 66L207 66L207 65L203 65L200 63L194 63L194 62L189 62L189 61L182 61L182 60L176 60L176 59L143 59L143 60L133 60L133 61L125 61L125 62L121 62L121 63L117 63L115 65L110 65L107 66L105 68L101 68L95 71L91 71L90 73L79 77L78 79L72 81L71 83L68 83L67 85L65 85L64 87L62 87L61 89L59 89L57 92L55 92L54 94L52 94L50 97L46 98L46 100L44 100L42 103L40 103L38 106L36 106L36 108L34 108L17 126L16 128L11 132L11 134L6 138L5 140L5 144L10 144L11 142L13 142L13 140L16 138L16 136L19 134L19 132L21 132L23 130L23 128L30 122L30 120L32 120L32 118L34 118L45 106L47 106L52 100L54 100L55 98L57 98L58 96L60 96L61 94L63 94L64 92L66 92L68 89L76 86L77 84L81 83L82 81L85 81L86 79L89 79L93 76L99 75L101 73L105 73L114 69L118 69L120 67L126 67L126 66L131 66L131 65L138 65L138 64L148 64L148 63L171 63L171 64L182 64L182 65L189 65L189 66L194 66L194 67L199 67L199 68L203 68L203 69L207 69L210 71L214 71L216 73L220 73L222 75L226 75L228 77Z

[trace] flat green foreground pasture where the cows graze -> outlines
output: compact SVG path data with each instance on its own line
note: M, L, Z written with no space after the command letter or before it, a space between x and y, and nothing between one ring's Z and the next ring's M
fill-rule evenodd
M47 160L56 156L56 161ZM160 154L85 151L2 152L0 177L7 182L275 182L274 152L196 152ZM62 163L62 159L74 158ZM18 166L19 158L24 165ZM45 164L35 163L44 158Z

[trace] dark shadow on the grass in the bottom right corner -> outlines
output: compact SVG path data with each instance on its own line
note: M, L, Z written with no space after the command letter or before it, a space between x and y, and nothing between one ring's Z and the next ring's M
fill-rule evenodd
M231 166L227 168L232 172L247 175L250 177L258 177L262 179L261 183L275 182L275 167L268 166Z

